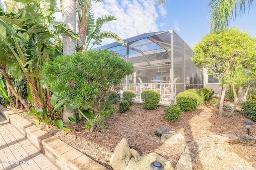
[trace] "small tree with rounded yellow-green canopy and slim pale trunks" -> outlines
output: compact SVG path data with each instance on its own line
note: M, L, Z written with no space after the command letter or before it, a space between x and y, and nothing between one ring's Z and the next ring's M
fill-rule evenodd
M237 83L244 87L242 94L255 80L255 38L236 27L226 28L218 33L208 33L196 44L192 61L198 67L203 67L210 74L216 76L220 82L220 104L223 106L226 86ZM242 76L235 79L230 76L230 71L236 68L243 72ZM242 95L239 97L239 100ZM234 108L238 104L235 103ZM219 107L219 115L222 116L223 107ZM228 116L233 113L230 111Z

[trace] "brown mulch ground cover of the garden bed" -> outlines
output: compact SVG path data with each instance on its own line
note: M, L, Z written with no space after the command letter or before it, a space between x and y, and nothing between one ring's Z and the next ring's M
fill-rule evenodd
M232 106L230 102L224 104ZM118 105L116 106L118 107ZM64 132L54 127L48 133L51 133L109 169L112 169L109 165L110 156L122 138L126 138L130 148L137 150L141 155L157 152L170 160L173 168L175 168L186 144L208 135L247 135L247 130L243 123L244 121L251 121L240 112L234 112L229 118L220 117L218 116L218 107L212 106L210 102L203 104L194 111L183 112L182 117L175 123L164 119L163 109L163 107L158 107L156 110L146 110L140 104L133 104L128 112L120 113L116 111L112 116L107 117L104 120L106 122L105 129L89 133L84 130L85 120L82 120L73 127L75 131ZM224 115L228 113L229 110L224 109ZM251 122L254 125L250 133L251 135L256 135L256 122ZM170 146L164 146L160 138L154 135L154 131L161 126L167 127L169 131L181 133L185 137L185 141L171 148ZM246 157L250 165L256 168L255 144L232 145L231 148L230 150L236 152L241 158ZM243 152L245 150L248 151ZM254 156L248 156L248 154ZM204 169L202 164L203 162L198 160L194 169Z

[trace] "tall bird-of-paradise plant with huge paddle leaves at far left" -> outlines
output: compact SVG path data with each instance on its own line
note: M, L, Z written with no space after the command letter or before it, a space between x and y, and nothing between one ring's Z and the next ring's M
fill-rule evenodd
M62 55L60 42L62 33L70 34L74 38L78 36L70 29L66 29L62 23L54 20L56 1L22 0L22 2L24 8L19 9L17 14L0 9L0 36L18 62L20 74L26 77L28 102L35 110L47 109L50 114L52 107L49 108L49 103L52 94L48 87L44 88L41 83L40 68L47 58ZM12 37L14 46L8 43L7 35ZM21 46L26 50L23 51Z

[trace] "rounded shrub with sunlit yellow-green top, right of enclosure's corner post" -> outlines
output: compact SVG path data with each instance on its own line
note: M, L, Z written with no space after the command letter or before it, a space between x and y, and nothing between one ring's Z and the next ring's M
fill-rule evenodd
M192 111L196 109L196 106L198 106L198 100L200 100L200 97L198 94L186 90L184 92L180 92L176 96L176 100L181 110Z

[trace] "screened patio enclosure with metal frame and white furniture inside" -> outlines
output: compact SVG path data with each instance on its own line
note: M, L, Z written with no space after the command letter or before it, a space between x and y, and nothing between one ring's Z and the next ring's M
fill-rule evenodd
M132 63L135 71L122 81L124 89L138 96L143 87L155 89L162 101L175 104L179 92L203 87L203 72L191 61L192 49L173 29L130 37L124 44L114 42L96 48L112 50Z

